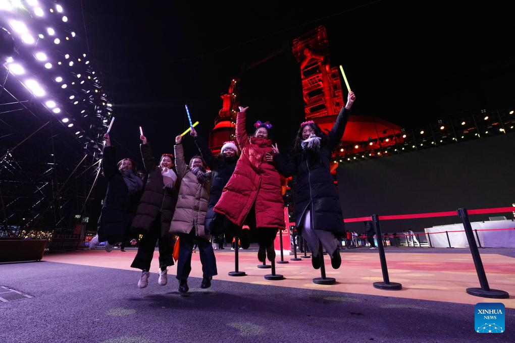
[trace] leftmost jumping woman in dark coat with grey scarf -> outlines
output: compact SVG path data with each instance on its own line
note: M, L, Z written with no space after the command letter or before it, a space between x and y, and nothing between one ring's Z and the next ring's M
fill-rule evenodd
M102 157L102 171L108 184L98 218L98 241L108 241L112 245L129 238L128 229L143 190L143 181L136 174L138 170L132 159L124 158L116 164L111 138L105 134L104 139L106 147Z

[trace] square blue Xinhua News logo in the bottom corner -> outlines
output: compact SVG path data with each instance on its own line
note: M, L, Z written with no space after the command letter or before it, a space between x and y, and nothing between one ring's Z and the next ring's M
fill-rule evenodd
M478 333L502 333L504 327L502 302L479 302L474 308L474 329Z

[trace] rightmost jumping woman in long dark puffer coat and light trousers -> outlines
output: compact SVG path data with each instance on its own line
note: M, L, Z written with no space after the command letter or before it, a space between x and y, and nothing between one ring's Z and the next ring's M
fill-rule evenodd
M329 135L313 121L300 124L289 160L274 147L273 161L285 177L297 175L295 215L297 227L313 251L312 264L320 268L319 242L331 256L331 265L341 264L336 236L344 232L344 220L330 172L331 153L344 135L350 109L356 97L350 92Z

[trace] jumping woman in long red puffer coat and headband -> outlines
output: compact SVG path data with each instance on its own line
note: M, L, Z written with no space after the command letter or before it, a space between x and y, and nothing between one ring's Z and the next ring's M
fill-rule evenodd
M236 141L242 153L215 212L224 214L237 226L242 226L248 216L247 223L258 237L258 259L265 261L266 249L268 259L272 261L276 256L273 240L278 229L285 226L281 180L272 164L272 141L268 139L272 125L258 121L254 124L254 135L248 137L245 128L247 109L240 106L236 117Z

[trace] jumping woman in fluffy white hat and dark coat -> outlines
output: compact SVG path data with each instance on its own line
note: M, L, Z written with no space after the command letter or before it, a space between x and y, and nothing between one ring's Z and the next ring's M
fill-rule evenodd
M239 158L238 148L233 141L227 141L220 149L220 154L218 156L213 156L208 145L202 138L198 137L195 129L191 130L191 135L195 139L195 144L197 145L202 158L208 165L209 169L213 172L208 211L205 214L205 232L210 233L213 236L218 236L222 233L228 233L231 236L234 236L235 234L239 237L243 236L245 238L244 242L242 242L242 246L247 249L249 247L249 240L245 235L242 235L244 230L233 224L225 217L225 215L214 211L214 207L222 195L222 190L224 190L224 187L229 182L229 179L236 168L236 162Z

